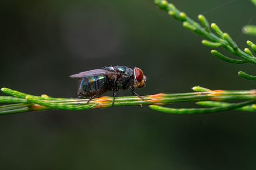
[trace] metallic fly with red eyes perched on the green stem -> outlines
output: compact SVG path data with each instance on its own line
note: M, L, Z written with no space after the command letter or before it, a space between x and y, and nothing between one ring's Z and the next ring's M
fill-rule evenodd
M96 96L107 91L113 91L112 106L114 105L116 92L119 89L130 88L133 95L142 98L134 91L134 88L146 85L146 76L141 69L120 65L105 66L100 69L80 72L70 77L81 79L77 95L79 98L90 97L87 103Z

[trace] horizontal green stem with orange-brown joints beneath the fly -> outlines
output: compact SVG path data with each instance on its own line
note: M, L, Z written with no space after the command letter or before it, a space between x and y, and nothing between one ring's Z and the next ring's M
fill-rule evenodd
M52 98L47 95L33 96L9 88L2 88L2 92L7 95L19 96L9 97L1 96L1 103L18 103L0 106L0 114L11 114L28 111L44 110L88 110L96 108L112 107L112 97L101 97L92 99L88 104L88 99L75 98ZM193 87L196 92L177 93L177 94L155 94L145 95L141 98L137 96L117 97L114 106L142 106L142 105L165 105L176 102L191 101L226 101L226 100L256 100L256 90L247 91L225 91L210 90L203 87ZM6 99L6 100L5 100ZM238 105L240 106L240 105ZM232 107L231 107L232 108ZM197 110L195 110L197 111Z

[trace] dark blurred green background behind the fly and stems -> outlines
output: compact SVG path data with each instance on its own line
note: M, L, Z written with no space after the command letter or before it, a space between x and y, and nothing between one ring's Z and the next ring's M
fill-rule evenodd
M256 41L241 33L256 22L249 0L172 3L194 19L204 14L241 48ZM140 95L190 92L196 85L255 88L237 76L240 70L254 74L255 66L211 56L202 37L150 0L9 0L0 2L0 14L1 87L76 97L78 83L69 75L133 65L148 78L136 90ZM0 169L255 169L255 143L255 113L168 115L115 107L0 117Z

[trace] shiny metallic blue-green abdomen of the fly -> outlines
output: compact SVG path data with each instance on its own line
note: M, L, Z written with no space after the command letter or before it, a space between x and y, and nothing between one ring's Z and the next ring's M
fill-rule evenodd
M108 78L104 75L84 77L81 80L80 87L78 89L78 95L93 96L98 93L101 95L107 91L105 88L107 82Z

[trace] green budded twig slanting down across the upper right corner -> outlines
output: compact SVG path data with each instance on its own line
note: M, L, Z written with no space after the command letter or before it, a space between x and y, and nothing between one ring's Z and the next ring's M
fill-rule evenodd
M251 63L256 64L256 57L253 53L248 49L241 50L236 42L231 38L228 33L224 33L215 23L211 25L207 21L207 19L203 15L198 15L198 20L201 25L195 22L193 19L189 18L184 12L181 12L177 9L173 4L168 3L167 1L162 0L154 0L154 2L158 5L159 8L168 12L169 15L173 16L175 19L181 21L183 23L183 27L186 29L193 31L194 33L201 35L208 40L202 40L202 44L208 47L222 47L225 50L229 51L233 55L240 57L240 60L233 59L227 56L224 56L218 51L211 51L215 57L218 57L224 61L235 63L235 64L243 64L243 63ZM211 31L212 30L212 31ZM251 41L249 41L251 42ZM248 41L247 41L248 44ZM249 44L248 44L249 45ZM252 45L254 45L252 47ZM249 45L253 52L255 53L255 44L251 42ZM248 75L248 74L247 74ZM252 75L244 76L243 78L251 79Z

